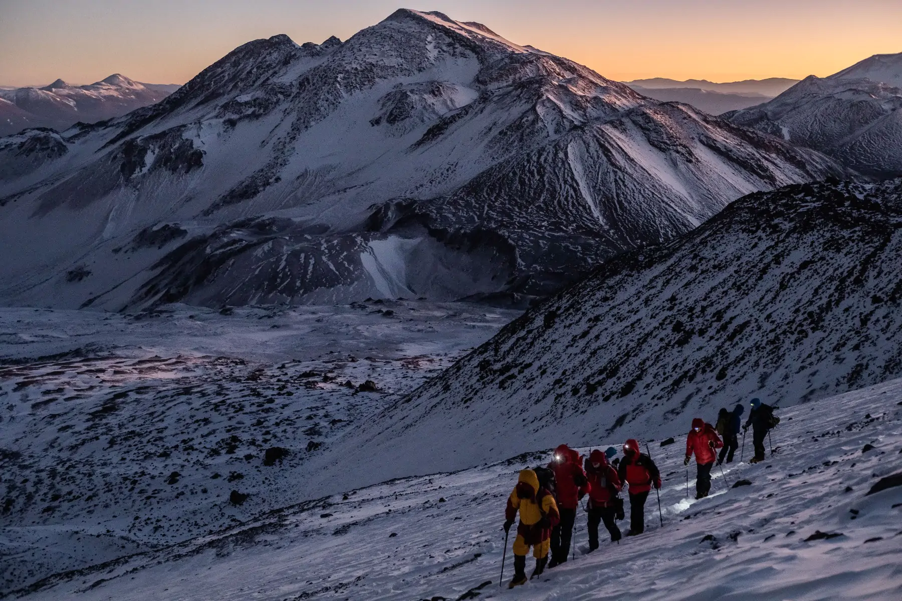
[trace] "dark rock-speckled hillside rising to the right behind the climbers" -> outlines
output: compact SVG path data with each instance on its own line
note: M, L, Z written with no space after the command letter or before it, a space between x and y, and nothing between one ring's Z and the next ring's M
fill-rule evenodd
M428 439L421 469L456 469L523 440L649 438L749 396L785 406L898 378L899 265L902 180L746 196L529 311L359 446L405 465Z

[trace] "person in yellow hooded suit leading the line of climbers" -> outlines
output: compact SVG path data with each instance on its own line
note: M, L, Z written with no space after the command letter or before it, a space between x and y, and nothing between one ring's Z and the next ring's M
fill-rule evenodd
M536 569L532 571L532 577L537 577L545 569L551 529L560 521L555 497L538 485L538 477L532 469L520 471L517 486L508 497L504 510L505 533L510 532L518 511L520 524L517 525L517 537L513 542L514 574L509 585L511 588L526 584L526 554L529 553L529 547L532 547L532 554L536 558Z

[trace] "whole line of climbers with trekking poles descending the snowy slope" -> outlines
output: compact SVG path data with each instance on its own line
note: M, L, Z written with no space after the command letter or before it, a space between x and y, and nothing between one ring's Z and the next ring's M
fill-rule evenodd
M705 423L701 418L692 421L692 429L686 437L684 465L688 466L695 455L696 499L708 496L711 490L714 462L720 465L724 458L727 463L732 462L733 454L739 448L740 429L744 439L745 431L752 426L755 456L750 463L765 459L764 439L769 430L779 423L779 418L773 414L773 407L753 398L749 420L741 425L743 410L742 405L736 405L732 413L721 409L716 426ZM717 449L721 449L719 456ZM649 455L641 451L637 440L630 438L623 443L622 450L622 460L609 461L617 453L613 447L607 451L595 449L583 460L578 451L561 444L548 467L520 471L517 486L508 497L504 512L505 533L510 533L514 519L520 513L520 524L513 542L514 576L509 587L528 581L526 556L530 547L536 558L536 568L530 578L539 576L546 568L566 562L573 539L576 507L586 495L589 497L584 505L589 552L598 549L599 524L607 528L612 542L621 540L621 530L616 521L625 517L620 496L624 485L628 486L630 495L630 530L626 535L645 532L645 502L652 487L661 487L661 474Z

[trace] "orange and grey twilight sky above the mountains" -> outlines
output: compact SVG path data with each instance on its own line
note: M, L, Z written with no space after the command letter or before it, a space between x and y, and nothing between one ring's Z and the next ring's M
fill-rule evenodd
M402 6L620 80L824 77L902 52L902 0L0 0L0 85L181 84L246 41L346 40Z

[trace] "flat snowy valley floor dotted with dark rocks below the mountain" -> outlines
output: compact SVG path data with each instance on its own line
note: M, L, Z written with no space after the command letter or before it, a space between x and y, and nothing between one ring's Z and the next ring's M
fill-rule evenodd
M517 314L0 309L0 593L318 496L311 458Z

